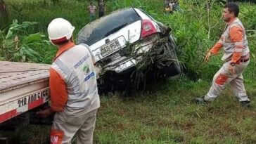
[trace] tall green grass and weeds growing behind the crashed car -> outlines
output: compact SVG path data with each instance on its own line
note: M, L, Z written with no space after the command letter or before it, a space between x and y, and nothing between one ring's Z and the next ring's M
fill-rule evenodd
M206 8L207 0L180 0L179 3L183 9L183 13L174 13L167 15L164 13L163 1L159 0L108 0L106 1L106 11L110 13L118 8L129 6L142 8L147 11L153 18L159 20L172 27L172 33L177 37L179 60L185 63L186 74L191 79L211 79L212 75L221 66L221 55L212 58L210 63L204 63L203 57L205 53L219 39L220 34L224 29L224 22L221 19L223 2L217 0L211 1L210 9ZM94 1L97 5L97 1ZM89 1L68 1L53 3L53 0L9 0L6 1L8 6L9 23L13 18L18 21L35 21L39 22L30 28L30 32L46 33L46 27L53 18L63 17L73 25L75 25L75 37L77 32L89 22L89 14L87 6ZM255 5L244 3L240 4L241 13L239 18L248 30L248 39L250 50L252 51L251 64L245 72L245 77L255 77L255 40L256 40L256 14ZM53 48L51 48L53 49ZM42 63L51 63L51 58L56 50L44 51L44 48L39 49L40 53L47 55Z

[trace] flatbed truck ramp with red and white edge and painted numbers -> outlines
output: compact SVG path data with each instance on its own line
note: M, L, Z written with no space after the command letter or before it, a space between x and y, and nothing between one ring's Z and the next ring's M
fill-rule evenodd
M49 101L49 68L0 61L0 124Z

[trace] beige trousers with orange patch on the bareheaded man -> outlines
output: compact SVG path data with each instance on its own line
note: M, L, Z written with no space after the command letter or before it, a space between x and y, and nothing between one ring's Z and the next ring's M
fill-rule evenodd
M231 74L229 72L230 61L222 65L219 71L215 74L212 80L212 86L208 93L205 95L205 100L212 101L215 100L225 88L227 84L231 86L231 89L238 100L250 101L246 95L245 86L243 85L243 71L249 64L247 62L241 62L235 65L236 74Z

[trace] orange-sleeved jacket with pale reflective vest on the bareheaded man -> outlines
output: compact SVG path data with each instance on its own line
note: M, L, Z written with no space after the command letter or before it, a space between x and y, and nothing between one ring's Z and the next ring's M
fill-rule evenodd
M237 63L241 58L250 53L245 28L238 18L234 18L227 23L222 37L210 49L210 52L217 54L222 47L224 48L222 60L231 60L231 63Z

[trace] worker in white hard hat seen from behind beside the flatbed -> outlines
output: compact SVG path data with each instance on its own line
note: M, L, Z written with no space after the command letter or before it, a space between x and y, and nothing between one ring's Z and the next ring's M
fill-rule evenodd
M41 117L54 114L51 144L91 144L100 106L93 57L85 44L75 45L75 30L68 20L56 18L48 25L51 43L58 52L50 68L51 107L37 112Z

